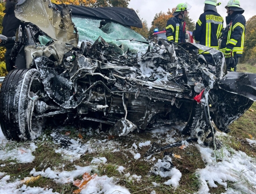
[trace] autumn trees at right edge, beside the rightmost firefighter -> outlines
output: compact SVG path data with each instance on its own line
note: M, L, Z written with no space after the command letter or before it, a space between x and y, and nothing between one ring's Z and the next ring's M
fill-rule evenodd
M255 53L256 53L256 15L250 18L246 22L246 34L244 53L242 61L255 64Z

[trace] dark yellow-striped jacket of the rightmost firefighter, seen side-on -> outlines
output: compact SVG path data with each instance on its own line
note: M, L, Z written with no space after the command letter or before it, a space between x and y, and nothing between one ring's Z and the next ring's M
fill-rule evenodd
M241 57L245 42L245 17L234 12L231 16L226 17L226 21L227 26L224 30L220 51L225 53L226 48L229 48Z

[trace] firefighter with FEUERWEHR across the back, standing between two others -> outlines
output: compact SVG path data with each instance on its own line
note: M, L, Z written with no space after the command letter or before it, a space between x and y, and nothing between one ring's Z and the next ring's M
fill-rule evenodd
M219 49L219 38L222 35L223 17L217 12L217 0L206 0L204 2L204 13L202 13L193 31L193 39L199 41L200 45ZM214 64L212 55L199 49L207 62Z

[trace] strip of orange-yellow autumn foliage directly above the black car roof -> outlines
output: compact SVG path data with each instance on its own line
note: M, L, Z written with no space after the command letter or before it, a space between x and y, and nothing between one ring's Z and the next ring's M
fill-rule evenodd
M89 6L93 8L109 7L109 6L127 8L130 0L52 0L51 2L56 4L64 3L64 4L72 4L72 5L82 5L82 6Z

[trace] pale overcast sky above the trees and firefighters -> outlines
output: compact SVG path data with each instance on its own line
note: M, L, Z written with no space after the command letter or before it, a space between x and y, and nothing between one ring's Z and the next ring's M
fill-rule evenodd
M130 0L128 8L133 8L134 10L139 10L139 15L141 18L147 21L148 27L151 27L151 22L153 21L156 13L160 11L167 13L168 9L176 8L179 3L188 2L192 7L189 10L189 17L197 22L199 16L203 13L204 0ZM219 0L222 4L217 6L218 13L224 18L227 16L225 6L229 0ZM256 15L256 0L240 0L240 7L245 10L244 16L246 21L252 16Z

